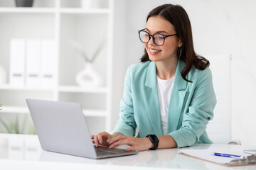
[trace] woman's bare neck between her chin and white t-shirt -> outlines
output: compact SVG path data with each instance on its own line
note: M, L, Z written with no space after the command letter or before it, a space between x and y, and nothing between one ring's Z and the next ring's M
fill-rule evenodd
M169 61L156 62L156 74L160 79L171 79L175 77L178 58Z

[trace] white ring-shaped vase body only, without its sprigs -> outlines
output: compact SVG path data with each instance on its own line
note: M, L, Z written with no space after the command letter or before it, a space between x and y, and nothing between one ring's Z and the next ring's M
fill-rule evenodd
M82 87L97 87L102 84L102 79L92 67L92 63L85 64L85 69L78 72L76 76L78 86Z

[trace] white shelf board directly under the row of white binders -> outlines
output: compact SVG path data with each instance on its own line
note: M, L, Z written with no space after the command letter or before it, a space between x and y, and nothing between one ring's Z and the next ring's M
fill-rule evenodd
M0 85L0 90L18 91L53 91L53 87L30 87L30 86L11 86L9 84Z

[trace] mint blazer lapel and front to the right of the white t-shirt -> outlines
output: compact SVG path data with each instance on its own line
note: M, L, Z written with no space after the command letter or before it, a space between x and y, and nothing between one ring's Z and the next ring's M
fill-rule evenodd
M187 93L187 91L185 91L184 89L186 89L188 82L181 77L181 70L183 69L184 65L185 63L183 61L178 60L174 79L174 87L172 89L172 94L169 103L167 125L168 133L173 132L178 128L178 123L180 122L181 112L183 109L184 98Z

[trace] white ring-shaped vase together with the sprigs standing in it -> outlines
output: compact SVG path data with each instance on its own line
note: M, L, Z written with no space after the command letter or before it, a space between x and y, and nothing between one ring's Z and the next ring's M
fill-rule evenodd
M75 77L75 80L78 84L78 86L82 87L97 87L102 84L102 78L99 74L95 71L95 69L92 66L92 63L95 61L96 57L99 55L100 51L102 50L102 47L105 44L105 39L100 42L99 46L97 47L97 50L92 55L91 58L87 56L84 50L82 50L82 47L77 42L72 42L75 49L79 52L79 55L82 55L82 57L85 59L85 69L82 69L80 72L78 72L77 76Z

